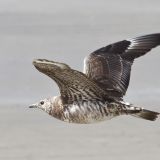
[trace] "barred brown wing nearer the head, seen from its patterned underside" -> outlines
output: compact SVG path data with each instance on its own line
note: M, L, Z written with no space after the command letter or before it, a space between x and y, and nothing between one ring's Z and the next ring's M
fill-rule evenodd
M66 64L44 59L35 60L33 64L58 84L64 105L81 100L109 100L106 92L96 83Z

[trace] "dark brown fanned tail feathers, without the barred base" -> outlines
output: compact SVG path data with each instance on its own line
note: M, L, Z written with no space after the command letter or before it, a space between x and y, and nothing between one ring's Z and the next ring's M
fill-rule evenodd
M150 120L150 121L155 121L158 118L158 115L160 115L160 113L142 109L139 111L139 113L135 113L131 115L138 118Z

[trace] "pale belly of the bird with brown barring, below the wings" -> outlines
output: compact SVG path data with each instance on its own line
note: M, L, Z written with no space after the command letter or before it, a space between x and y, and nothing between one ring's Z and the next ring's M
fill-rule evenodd
M83 105L73 104L68 106L64 111L63 120L71 123L85 124L96 123L113 117L115 117L114 111L112 110L111 112L106 104L83 103Z

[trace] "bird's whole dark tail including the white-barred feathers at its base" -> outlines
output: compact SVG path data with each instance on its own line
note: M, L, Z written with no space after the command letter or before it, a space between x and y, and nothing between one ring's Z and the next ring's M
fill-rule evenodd
M139 108L139 107L133 107L133 108L134 108L134 111L132 109L133 112L130 109L130 115L137 117L137 118L155 121L158 118L158 115L160 115L160 113L158 113L158 112L146 110L143 108Z

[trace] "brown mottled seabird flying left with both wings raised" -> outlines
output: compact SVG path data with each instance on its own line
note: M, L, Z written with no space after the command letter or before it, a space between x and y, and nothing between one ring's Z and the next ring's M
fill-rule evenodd
M119 115L154 121L160 113L126 103L131 67L136 58L160 45L160 33L144 35L100 48L84 60L84 72L64 63L37 59L37 70L53 79L60 95L32 104L70 123L94 123Z

